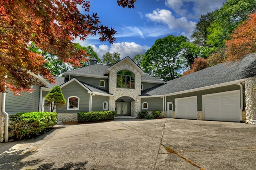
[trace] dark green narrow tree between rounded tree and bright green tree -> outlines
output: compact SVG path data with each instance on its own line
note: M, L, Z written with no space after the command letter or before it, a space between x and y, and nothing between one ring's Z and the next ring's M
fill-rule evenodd
M210 34L208 28L210 27L210 25L212 25L213 21L213 12L208 12L205 15L201 15L198 23L196 23L196 28L191 36L193 38L193 43L200 47L207 47L206 41L208 35Z

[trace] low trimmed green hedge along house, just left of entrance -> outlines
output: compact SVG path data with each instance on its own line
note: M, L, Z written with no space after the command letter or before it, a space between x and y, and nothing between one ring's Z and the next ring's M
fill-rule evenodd
M77 113L78 122L114 120L115 111L89 111Z

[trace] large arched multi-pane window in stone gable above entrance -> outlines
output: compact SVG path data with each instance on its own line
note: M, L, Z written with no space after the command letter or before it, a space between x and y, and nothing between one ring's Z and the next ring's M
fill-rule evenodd
M135 88L135 75L127 70L121 70L116 75L117 88Z

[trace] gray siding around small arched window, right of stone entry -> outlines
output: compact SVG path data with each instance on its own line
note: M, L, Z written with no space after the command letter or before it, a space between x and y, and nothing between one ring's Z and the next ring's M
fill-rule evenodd
M148 109L142 109L142 104L148 103ZM163 111L163 98L141 98L140 104L141 111Z

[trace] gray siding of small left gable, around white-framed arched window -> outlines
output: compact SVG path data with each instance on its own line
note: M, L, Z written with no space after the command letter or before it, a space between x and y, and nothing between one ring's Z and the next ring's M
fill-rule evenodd
M56 109L57 113L78 113L89 111L89 99L90 94L87 93L87 90L83 88L80 84L73 81L70 84L61 88L64 98L66 99L67 104L61 107L60 109ZM79 100L79 110L68 110L68 98L70 96L76 96Z

